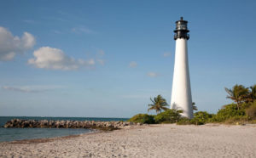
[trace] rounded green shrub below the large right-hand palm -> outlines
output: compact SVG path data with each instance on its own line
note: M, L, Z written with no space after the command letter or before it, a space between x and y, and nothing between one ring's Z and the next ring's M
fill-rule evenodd
M218 113L212 117L211 121L226 121L234 116L245 116L245 110L238 110L236 104L227 104L224 105L223 109L218 110Z

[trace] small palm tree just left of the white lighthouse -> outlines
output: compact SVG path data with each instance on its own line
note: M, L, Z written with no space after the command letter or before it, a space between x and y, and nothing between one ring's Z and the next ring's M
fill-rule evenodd
M166 108L166 106L168 106L168 104L166 103L166 99L162 98L161 95L158 95L157 97L154 97L154 99L151 99L153 104L148 104L149 110L155 110L156 114L159 114L161 112L161 110L168 110L169 108Z

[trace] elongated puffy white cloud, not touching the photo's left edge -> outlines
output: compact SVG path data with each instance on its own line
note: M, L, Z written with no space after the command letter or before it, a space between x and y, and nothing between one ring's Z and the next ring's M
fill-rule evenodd
M33 55L34 58L29 59L27 63L41 69L72 71L96 64L94 59L73 59L58 48L38 48Z

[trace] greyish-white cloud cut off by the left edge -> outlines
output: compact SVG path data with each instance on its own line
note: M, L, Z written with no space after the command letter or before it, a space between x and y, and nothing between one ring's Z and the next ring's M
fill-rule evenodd
M36 43L32 34L24 32L22 37L14 37L10 31L0 26L0 60L11 60L22 54Z

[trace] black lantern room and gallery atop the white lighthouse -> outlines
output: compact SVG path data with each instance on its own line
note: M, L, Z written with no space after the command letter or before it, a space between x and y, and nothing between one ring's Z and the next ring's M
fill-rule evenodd
M174 35L174 40L177 40L177 38L185 38L189 39L189 30L188 30L188 21L183 20L183 17L180 18L180 20L176 21L176 30Z

